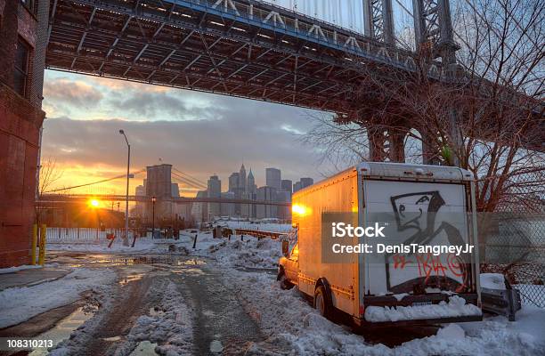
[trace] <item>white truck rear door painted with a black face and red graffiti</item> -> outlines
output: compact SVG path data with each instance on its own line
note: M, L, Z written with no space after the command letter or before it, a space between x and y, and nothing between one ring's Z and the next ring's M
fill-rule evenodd
M386 238L366 238L371 245L468 243L466 185L366 179L362 188L365 223L386 224ZM374 254L367 258L364 272L366 294L470 292L472 272L468 256L463 258L454 254Z

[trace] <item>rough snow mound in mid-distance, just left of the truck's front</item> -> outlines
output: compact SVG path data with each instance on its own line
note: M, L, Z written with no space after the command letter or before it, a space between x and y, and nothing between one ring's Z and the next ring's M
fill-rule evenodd
M211 246L208 252L217 261L227 265L253 267L253 268L274 268L278 265L281 257L281 241L273 239L246 238L224 240Z

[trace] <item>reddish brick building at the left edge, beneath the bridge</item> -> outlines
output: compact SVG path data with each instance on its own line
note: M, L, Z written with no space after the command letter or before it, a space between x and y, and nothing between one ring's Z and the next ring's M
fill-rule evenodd
M29 263L47 0L0 0L0 268Z

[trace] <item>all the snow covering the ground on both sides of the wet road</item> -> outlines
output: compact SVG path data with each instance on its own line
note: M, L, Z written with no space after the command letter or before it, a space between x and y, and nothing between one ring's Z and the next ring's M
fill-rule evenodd
M229 223L234 223L233 228L239 227L236 226L239 222ZM260 230L279 231L278 227L273 229L273 226L261 228ZM256 320L261 332L266 336L265 341L248 345L248 355L274 354L273 350L295 355L545 355L545 310L531 305L524 305L523 309L517 312L517 321L514 322L509 322L505 317L485 315L483 321L444 325L435 336L414 339L396 347L370 344L363 336L354 334L350 328L322 318L297 292L297 288L282 290L273 273L240 269L240 267L275 268L281 256L280 241L257 240L251 237L245 237L244 241L241 241L237 236L233 236L231 240L213 239L211 233L199 232L196 248L193 249L194 235L191 231L183 231L179 240L139 239L134 248L123 247L120 241L116 241L117 244L112 249L94 244L48 247L69 251L115 254L168 253L209 258L207 260L209 268L222 272L224 284L229 287L233 296L240 299L245 311ZM77 299L78 293L82 290L93 288L96 284L110 284L113 279L114 272L108 268L93 271L83 268L56 281L57 284L45 283L29 287L37 289L28 290L7 289L5 293L0 292L2 305L0 326L19 322L17 315L28 314L30 308L35 306L36 312L30 312L32 315L51 309L55 305L70 303ZM500 280L500 276L497 275L484 275L482 282L484 286L498 286L501 284ZM53 290L61 291L60 301L56 301L59 293L53 293ZM45 300L35 297L47 293L50 293L51 297ZM23 303L20 303L20 295L28 295L22 298ZM451 298L457 300L456 297ZM191 303L184 300L183 295L180 295L173 284L167 285L160 308L136 319L118 354L128 354L135 345L155 348L160 354L190 353L191 319L195 317L190 305ZM459 304L454 306L465 307ZM102 307L108 308L108 303ZM4 312L7 315L5 317ZM19 319L27 320L30 316ZM11 321L6 324L4 320ZM91 325L93 322L100 320L88 320L86 323ZM387 330L395 332L392 331L395 330L393 328ZM69 353L67 347L71 346L61 344L53 354Z

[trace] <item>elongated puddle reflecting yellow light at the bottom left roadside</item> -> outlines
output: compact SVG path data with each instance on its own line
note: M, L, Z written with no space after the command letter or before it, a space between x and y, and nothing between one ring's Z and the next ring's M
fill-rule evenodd
M52 329L45 331L45 333L36 336L37 340L53 340L53 346L61 343L62 340L68 339L72 331L79 328L86 320L89 320L94 315L94 310L89 311L91 308L79 307L75 312L72 312L68 317L59 321ZM29 355L38 356L46 355L47 349L36 349Z

